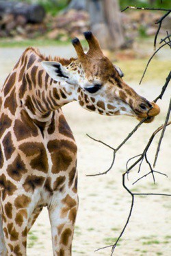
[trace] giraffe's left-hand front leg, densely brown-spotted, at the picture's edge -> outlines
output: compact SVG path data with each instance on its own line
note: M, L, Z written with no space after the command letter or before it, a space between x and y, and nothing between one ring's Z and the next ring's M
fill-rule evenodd
M2 227L8 256L25 256L27 246L27 206L31 201L24 194L4 196L2 200Z

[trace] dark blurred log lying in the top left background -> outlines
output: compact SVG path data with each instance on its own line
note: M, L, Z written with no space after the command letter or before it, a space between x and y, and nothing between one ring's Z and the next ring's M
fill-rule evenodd
M24 16L27 22L40 23L44 19L44 8L38 4L0 1L0 16L13 14Z

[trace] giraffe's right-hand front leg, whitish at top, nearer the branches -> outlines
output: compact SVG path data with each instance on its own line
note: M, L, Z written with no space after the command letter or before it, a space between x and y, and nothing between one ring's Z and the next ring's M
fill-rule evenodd
M54 256L71 255L77 209L77 194L65 194L60 202L49 207Z

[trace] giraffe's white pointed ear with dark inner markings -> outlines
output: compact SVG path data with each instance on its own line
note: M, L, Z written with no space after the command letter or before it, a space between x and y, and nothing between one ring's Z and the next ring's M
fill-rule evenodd
M47 71L49 76L55 81L72 83L70 72L60 62L42 61L42 67Z

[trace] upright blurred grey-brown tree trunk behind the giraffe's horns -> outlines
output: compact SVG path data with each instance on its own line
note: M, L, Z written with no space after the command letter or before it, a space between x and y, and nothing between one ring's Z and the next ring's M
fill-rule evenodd
M124 45L118 0L87 0L91 30L104 49Z

